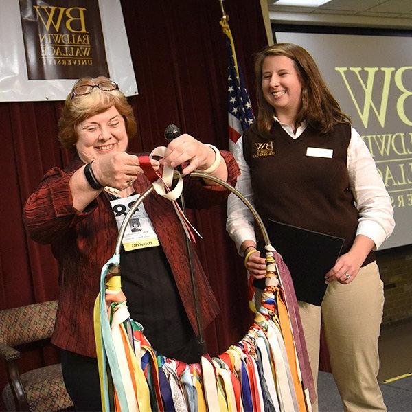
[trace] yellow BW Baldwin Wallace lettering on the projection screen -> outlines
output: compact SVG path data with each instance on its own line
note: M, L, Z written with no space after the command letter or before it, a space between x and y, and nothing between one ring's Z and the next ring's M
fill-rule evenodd
M411 207L412 131L402 128L412 126L412 66L335 70L367 129L362 138L375 159L393 207ZM371 126L371 119L375 118L380 127ZM388 119L391 128L398 130L385 130Z

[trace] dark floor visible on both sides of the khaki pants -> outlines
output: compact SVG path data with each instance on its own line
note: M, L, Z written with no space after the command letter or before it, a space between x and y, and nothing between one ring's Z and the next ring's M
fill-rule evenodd
M388 412L412 412L412 321L383 327L378 381ZM319 412L342 412L332 374L319 372Z

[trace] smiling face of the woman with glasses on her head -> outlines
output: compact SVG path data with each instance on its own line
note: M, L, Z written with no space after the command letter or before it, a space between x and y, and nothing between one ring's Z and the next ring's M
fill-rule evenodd
M124 152L128 145L126 124L115 106L78 124L76 133L76 149L84 163L106 153Z

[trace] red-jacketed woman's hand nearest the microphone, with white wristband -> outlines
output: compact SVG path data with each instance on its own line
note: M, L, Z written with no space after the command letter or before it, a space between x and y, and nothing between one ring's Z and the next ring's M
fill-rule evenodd
M209 146L194 137L184 134L172 140L163 157L163 164L172 168L185 163L189 164L183 168L183 174L190 174L195 169L207 169L216 159L215 152Z

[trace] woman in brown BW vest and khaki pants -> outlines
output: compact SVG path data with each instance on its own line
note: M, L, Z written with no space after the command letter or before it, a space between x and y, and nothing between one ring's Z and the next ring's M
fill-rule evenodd
M257 55L255 77L258 117L236 144L242 171L237 187L264 220L345 239L341 256L324 273L328 288L321 306L299 301L312 374L316 384L323 322L345 411L385 411L376 380L384 297L374 250L393 231L389 195L305 49L266 47ZM268 150L258 152L262 146ZM253 218L232 197L227 230L249 273L260 279L265 266Z

